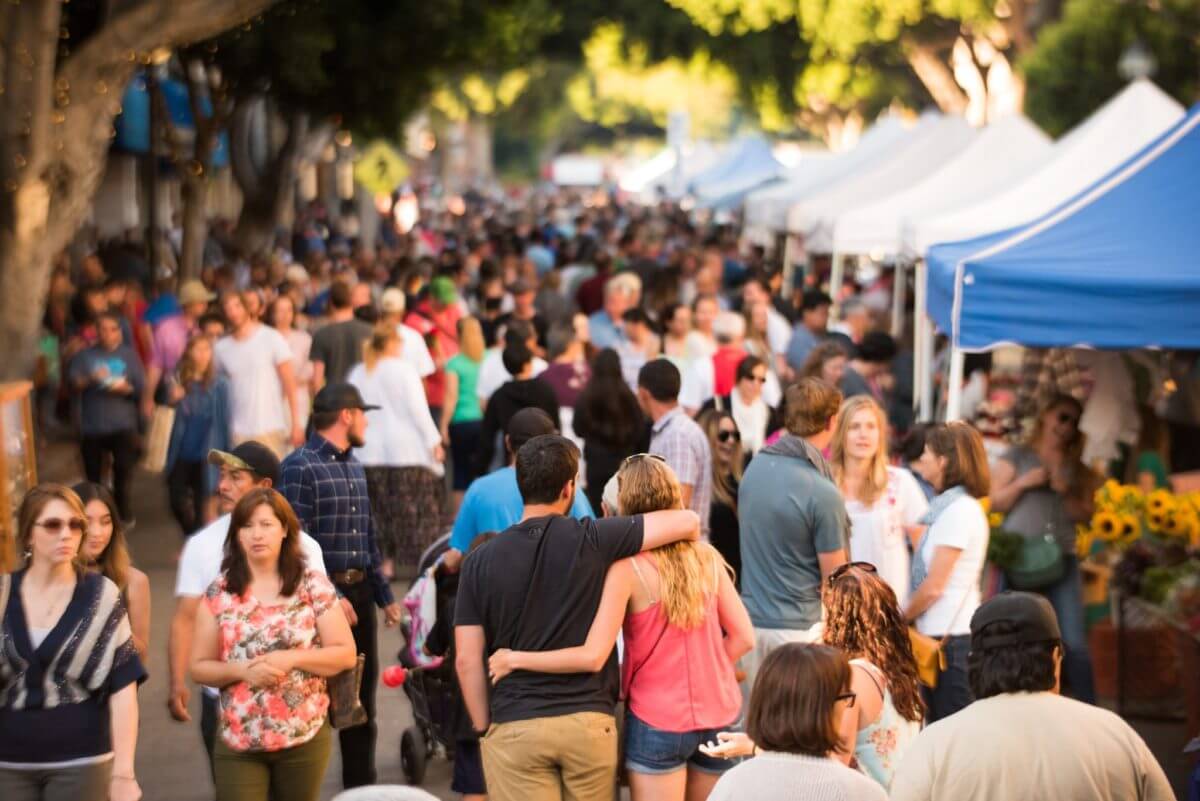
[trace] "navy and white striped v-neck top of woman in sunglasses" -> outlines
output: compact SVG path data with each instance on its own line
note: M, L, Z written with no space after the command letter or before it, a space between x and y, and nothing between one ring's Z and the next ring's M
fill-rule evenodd
M120 590L84 573L35 648L20 601L25 571L8 577L0 625L0 763L41 765L113 749L108 699L146 677Z

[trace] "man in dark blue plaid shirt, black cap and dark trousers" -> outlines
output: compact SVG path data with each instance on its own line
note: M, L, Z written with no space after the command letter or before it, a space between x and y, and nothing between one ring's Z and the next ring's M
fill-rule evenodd
M400 604L379 570L379 546L371 520L367 478L350 448L361 447L368 409L349 384L325 386L312 404L308 441L283 460L283 493L300 526L318 543L325 570L342 598L354 644L366 657L360 699L367 722L338 731L342 748L342 784L374 784L376 679L379 674L376 607L384 622L400 622Z

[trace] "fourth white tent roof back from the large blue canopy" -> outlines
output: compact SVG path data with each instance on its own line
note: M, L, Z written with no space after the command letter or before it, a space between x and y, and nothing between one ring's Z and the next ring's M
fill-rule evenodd
M893 146L912 135L912 130L895 116L871 126L852 150L833 153L820 161L802 158L790 170L786 181L756 189L746 195L745 228L781 231L787 224L787 210L793 203L864 164L883 158Z

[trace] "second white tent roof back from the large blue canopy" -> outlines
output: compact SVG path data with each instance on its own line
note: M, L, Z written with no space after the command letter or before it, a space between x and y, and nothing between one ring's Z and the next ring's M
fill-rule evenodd
M1052 152L1050 137L1014 114L984 128L974 141L924 181L838 217L835 253L907 253L911 221L961 209L1028 175Z

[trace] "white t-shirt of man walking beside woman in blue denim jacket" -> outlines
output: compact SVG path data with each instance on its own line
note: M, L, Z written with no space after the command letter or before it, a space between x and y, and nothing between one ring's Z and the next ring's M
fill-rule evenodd
M292 361L292 348L283 335L259 325L246 339L221 337L212 355L217 369L229 379L234 438L288 430L278 366Z

